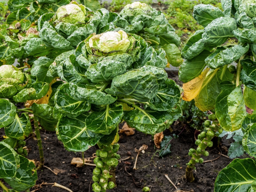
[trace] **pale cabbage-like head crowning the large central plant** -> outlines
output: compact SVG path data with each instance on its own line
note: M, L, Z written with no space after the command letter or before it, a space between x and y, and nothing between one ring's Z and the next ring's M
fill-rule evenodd
M90 48L95 48L101 52L121 51L126 52L130 46L127 34L123 30L108 31L99 35L94 35L89 39Z

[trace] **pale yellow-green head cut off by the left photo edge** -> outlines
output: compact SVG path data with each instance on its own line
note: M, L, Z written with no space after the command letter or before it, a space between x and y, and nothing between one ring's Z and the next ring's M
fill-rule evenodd
M24 80L24 75L20 70L16 70L12 65L2 65L0 67L1 78L19 79L21 82Z

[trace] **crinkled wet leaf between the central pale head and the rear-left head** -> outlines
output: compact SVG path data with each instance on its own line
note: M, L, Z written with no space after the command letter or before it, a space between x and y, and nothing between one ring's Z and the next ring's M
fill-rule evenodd
M56 26L57 27L57 26ZM67 40L72 46L76 47L81 41L84 41L89 35L96 33L96 27L92 23L76 29Z

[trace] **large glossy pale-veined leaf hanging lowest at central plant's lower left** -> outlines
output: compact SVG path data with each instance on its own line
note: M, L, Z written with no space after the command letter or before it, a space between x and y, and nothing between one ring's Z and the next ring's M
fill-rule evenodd
M85 119L88 116L89 113L85 112L77 117L60 117L56 132L68 151L86 151L103 136L87 129Z

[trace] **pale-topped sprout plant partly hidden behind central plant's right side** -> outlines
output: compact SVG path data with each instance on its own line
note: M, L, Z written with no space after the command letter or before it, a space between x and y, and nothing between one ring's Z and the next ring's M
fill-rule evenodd
M165 15L146 3L127 4L120 12L116 30L134 33L143 37L155 49L163 48L168 63L178 67L182 63L180 55L180 37L168 23Z

